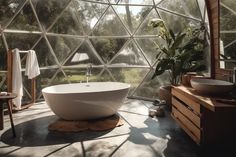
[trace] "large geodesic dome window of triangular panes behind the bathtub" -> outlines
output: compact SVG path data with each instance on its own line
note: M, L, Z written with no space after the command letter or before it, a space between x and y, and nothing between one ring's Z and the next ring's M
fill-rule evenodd
M202 0L7 0L0 7L0 68L8 49L34 49L38 99L46 86L86 81L90 63L90 81L127 82L130 97L154 99L168 79L151 79L160 40L150 21L162 19L174 33L208 23Z

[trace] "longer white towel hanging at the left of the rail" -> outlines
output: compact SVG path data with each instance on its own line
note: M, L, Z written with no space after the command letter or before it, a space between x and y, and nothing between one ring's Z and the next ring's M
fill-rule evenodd
M13 64L12 64L12 92L17 94L17 97L13 99L13 103L17 109L21 109L21 99L23 96L23 85L21 75L21 61L18 49L12 51Z

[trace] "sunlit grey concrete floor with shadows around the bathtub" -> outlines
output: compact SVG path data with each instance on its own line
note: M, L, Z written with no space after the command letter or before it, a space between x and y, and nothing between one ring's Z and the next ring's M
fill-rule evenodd
M17 137L12 137L8 115L0 131L1 157L198 157L201 152L170 117L150 118L151 102L128 99L119 110L125 124L109 131L50 132L57 119L48 106L36 103L14 113Z

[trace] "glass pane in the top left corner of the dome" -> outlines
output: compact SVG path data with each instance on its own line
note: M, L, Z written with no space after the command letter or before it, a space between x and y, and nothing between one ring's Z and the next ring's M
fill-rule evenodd
M2 27L4 27L14 14L19 11L24 2L25 0L15 0L14 2L7 0L0 1L0 25Z

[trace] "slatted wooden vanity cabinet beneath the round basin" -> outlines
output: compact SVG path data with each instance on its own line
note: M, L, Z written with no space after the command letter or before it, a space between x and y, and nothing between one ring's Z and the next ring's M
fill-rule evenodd
M236 104L200 96L192 88L172 87L171 115L198 145L236 141Z

